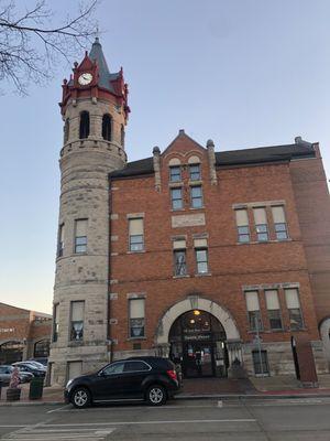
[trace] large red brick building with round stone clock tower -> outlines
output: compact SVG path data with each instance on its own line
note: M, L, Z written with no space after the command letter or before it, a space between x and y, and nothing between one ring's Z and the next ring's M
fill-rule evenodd
M128 88L98 40L64 83L52 381L161 354L186 377L329 369L317 143L217 151L180 130L127 162Z

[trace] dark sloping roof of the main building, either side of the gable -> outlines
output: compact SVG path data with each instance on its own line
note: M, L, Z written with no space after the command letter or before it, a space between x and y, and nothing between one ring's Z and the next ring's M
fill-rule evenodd
M301 143L258 147L242 150L229 150L216 152L217 168L231 165L261 164L265 162L290 161L298 158L315 158L315 149L311 143ZM122 170L109 174L110 178L129 178L154 172L153 158L128 162Z

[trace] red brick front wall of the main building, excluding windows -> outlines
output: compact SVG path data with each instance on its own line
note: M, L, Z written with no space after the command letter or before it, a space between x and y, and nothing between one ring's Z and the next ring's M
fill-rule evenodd
M173 213L168 190L168 161L178 157L186 162L186 153L199 154L202 159L202 190L205 209L189 208L189 193L185 194L186 207ZM302 162L302 161L301 161ZM306 163L308 161L305 161ZM112 338L118 338L116 349L131 349L128 341L128 293L146 293L146 341L142 348L152 347L158 320L175 302L189 293L215 300L227 308L234 318L241 336L251 341L248 330L243 286L299 282L300 302L307 332L311 340L318 338L312 294L307 271L307 261L301 243L301 230L296 207L288 163L265 164L235 169L220 169L218 185L210 184L207 151L188 138L178 138L162 154L162 190L154 189L154 176L113 180L112 213L119 218L111 222L111 235L118 241L111 243L112 292L118 300L111 301L111 318L118 324L111 326ZM187 172L184 174L187 181ZM237 244L235 217L232 205L238 203L285 201L289 237L286 243ZM145 252L128 254L129 213L144 213ZM172 215L205 213L206 225L198 227L172 228ZM272 226L268 211L268 225ZM250 227L253 229L252 215ZM208 233L209 269L211 276L195 276L193 234ZM173 278L172 237L187 235L188 278ZM275 239L271 229L271 239ZM252 235L252 241L255 236ZM280 290L284 323L288 327L284 293ZM262 298L262 297L261 297ZM266 319L265 302L261 304ZM271 332L264 320L263 340L288 341L289 332Z

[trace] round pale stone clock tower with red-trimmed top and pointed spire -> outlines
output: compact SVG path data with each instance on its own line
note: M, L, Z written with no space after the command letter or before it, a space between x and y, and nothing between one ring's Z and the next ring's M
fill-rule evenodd
M59 104L64 121L51 384L107 363L109 330L108 174L124 168L128 86L110 73L99 39L69 80Z

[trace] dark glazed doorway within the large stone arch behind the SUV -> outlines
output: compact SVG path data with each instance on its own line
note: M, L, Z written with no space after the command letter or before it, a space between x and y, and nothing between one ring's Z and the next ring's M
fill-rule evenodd
M226 377L227 335L219 320L202 310L179 315L169 330L169 357L182 365L184 377Z

